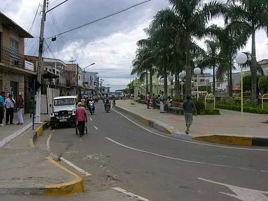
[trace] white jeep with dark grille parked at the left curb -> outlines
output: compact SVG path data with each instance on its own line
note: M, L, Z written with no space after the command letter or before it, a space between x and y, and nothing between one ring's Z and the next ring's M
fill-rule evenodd
M76 126L76 96L60 96L53 99L53 113L50 114L51 129L58 128L59 124L67 123Z

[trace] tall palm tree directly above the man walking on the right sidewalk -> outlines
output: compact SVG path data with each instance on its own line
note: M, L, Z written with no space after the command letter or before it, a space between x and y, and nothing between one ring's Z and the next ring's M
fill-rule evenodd
M216 0L209 3L203 3L203 0L169 0L169 2L178 16L176 40L186 55L186 94L191 96L191 41L193 37L202 38L206 23L225 13L226 7Z

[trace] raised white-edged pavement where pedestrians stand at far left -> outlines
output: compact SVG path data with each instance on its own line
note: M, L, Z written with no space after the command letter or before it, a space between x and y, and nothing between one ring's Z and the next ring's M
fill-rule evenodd
M49 120L49 115L41 115L41 121L47 120ZM18 115L17 113L14 113L13 123L14 124L12 125L5 125L0 127L0 147L30 128L32 126L32 118L30 118L30 114L25 114L23 115L23 124L17 125ZM5 116L3 119L3 124L5 124ZM35 128L37 126L38 125L36 125Z

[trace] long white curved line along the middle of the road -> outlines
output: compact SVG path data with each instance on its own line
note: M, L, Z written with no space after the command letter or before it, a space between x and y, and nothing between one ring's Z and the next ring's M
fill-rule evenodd
M128 149L132 149L134 151L138 151L138 152L142 152L142 153L151 154L151 155L154 155L154 156L159 156L159 157L166 158L166 159L172 159L172 160L176 160L176 161L184 161L184 162L190 162L190 163L197 163L197 164L205 164L205 165L211 165L211 166L217 166L217 167L235 168L234 166L230 166L230 165L221 165L221 164L214 164L214 163L200 162L200 161L190 161L190 160L186 160L186 159L169 157L169 156L165 156L165 155L162 155L162 154L157 154L157 153L153 153L153 152L149 152L149 151L144 151L144 150L141 150L141 149L136 149L136 148L121 144L120 142L114 141L111 138L106 138L106 139L109 140L109 141L112 141L115 144L118 144L118 145L120 145L122 147L128 148ZM266 170L247 169L247 168L240 168L240 167L238 167L238 169L250 170L250 171L260 171L260 172L268 172Z

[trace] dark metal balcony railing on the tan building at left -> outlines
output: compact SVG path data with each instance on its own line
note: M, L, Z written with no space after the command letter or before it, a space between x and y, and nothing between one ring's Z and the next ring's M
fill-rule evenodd
M17 50L5 46L0 46L0 62L6 66L24 68L23 55L20 55Z

